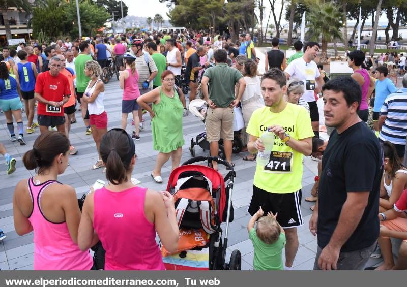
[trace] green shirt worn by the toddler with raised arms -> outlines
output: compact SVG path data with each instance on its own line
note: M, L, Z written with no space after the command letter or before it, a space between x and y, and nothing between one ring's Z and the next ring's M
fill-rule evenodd
M256 229L252 228L249 232L249 239L254 248L254 270L284 270L282 256L285 245L284 233L280 233L280 237L273 244L267 244L257 237Z

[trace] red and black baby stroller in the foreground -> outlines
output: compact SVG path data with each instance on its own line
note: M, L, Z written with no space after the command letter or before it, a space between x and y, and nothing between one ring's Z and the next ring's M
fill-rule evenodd
M225 178L211 167L194 165L212 161L230 168ZM229 263L225 262L229 222L233 221L231 202L236 173L233 167L219 157L198 156L182 164L170 174L167 191L174 196L180 239L176 253L164 254L167 270L240 270L241 253L234 250ZM222 222L226 222L222 242ZM199 233L196 231L199 230ZM181 249L182 235L195 232L201 238L192 248Z

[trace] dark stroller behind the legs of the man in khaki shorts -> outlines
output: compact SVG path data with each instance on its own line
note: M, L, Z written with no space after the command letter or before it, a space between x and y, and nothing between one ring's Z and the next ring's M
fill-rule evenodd
M189 111L197 116L199 119L205 123L205 117L206 117L206 112L208 109L208 104L202 99L195 99L189 103ZM236 111L236 109L235 109ZM237 117L240 116L241 120L237 120ZM237 124L236 122L243 122L243 117L242 114L240 113L235 113L235 123L234 123L234 139L232 141L232 153L239 153L243 150L243 142L241 139L241 133L240 130L243 128L243 126L239 123ZM235 126L237 125L237 126ZM207 141L207 133L203 132L200 133L199 135L196 136L196 140L191 139L191 146L189 147L189 152L191 153L192 157L195 157L195 145L199 145L203 151L210 150L210 143ZM225 151L223 148L223 140L219 140L219 151L218 151L218 156L223 158L225 160L226 155Z

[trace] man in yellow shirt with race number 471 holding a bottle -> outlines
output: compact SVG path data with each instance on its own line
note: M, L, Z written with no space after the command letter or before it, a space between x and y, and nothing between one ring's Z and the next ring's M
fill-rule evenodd
M274 133L269 163L257 164L248 211L254 215L261 206L265 214L278 213L277 221L287 240L285 267L290 269L299 246L297 227L304 224L300 209L302 159L312 152L314 133L307 110L284 100L286 83L284 72L277 68L263 75L261 93L266 107L253 112L246 132L250 135L247 148L253 154L265 149L260 136L266 131Z

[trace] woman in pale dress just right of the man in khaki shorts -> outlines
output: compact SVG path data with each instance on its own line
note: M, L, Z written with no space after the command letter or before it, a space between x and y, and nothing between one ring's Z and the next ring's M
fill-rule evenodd
M242 95L242 114L245 126L247 126L252 113L258 108L264 107L264 101L261 99L260 79L257 77L257 63L252 59L246 59L242 71L246 82L246 88ZM247 146L249 135L246 131L243 132L242 138L243 145ZM244 161L254 161L255 159L256 155L251 153L243 157Z

